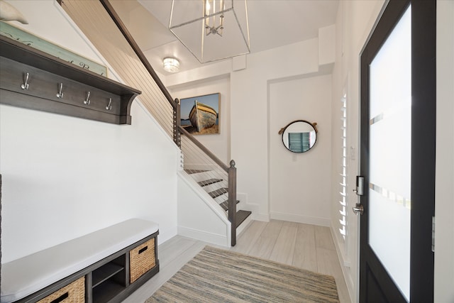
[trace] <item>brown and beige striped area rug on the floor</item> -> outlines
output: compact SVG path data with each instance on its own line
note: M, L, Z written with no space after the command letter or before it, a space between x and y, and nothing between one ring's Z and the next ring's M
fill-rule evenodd
M329 275L206 246L151 302L339 302Z

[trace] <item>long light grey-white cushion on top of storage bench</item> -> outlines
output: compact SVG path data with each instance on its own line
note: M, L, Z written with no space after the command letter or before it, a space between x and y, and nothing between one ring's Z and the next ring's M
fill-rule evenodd
M150 236L159 226L142 219L89 233L1 265L1 303L14 302Z

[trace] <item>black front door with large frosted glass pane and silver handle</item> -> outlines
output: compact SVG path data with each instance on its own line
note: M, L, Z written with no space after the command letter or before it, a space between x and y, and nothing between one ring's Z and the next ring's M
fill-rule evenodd
M433 302L435 55L436 1L389 1L362 51L360 302Z

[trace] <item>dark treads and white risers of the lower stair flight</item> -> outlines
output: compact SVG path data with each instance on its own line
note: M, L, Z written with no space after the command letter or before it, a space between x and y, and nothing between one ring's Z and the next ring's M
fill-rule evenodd
M196 175L196 174L203 174L204 172L209 172L208 170L184 170L187 172L189 175ZM215 201L219 204L219 206L222 207L222 209L226 212L228 212L228 188L226 187L220 187L214 190L211 190L212 188L210 187L211 185L214 185L216 183L221 183L223 182L223 179L219 178L213 178L209 177L209 179L206 180L200 180L197 181L197 183L206 189L206 192L210 195L211 198L215 199ZM221 199L221 202L219 202L218 199ZM236 204L240 203L239 200L236 200ZM251 212L250 211L245 211L245 210L238 210L236 211L236 227L240 226L240 224L245 221L245 219L250 216Z

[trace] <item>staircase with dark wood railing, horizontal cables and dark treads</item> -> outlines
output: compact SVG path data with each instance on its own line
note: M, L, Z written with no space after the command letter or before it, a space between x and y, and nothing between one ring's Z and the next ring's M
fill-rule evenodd
M250 211L236 211L239 202L236 200L235 162L232 160L228 167L182 128L179 100L172 99L108 0L57 0L57 2L89 38L96 50L109 62L109 65L118 72L123 82L131 87L138 87L142 91L141 104L148 109L162 129L182 150L185 171L225 211L226 217L222 216L223 224L231 226L230 243L231 246L235 246L236 228L251 214ZM196 167L196 165L216 167L216 169L189 170L187 168Z

